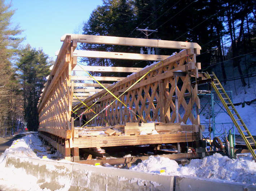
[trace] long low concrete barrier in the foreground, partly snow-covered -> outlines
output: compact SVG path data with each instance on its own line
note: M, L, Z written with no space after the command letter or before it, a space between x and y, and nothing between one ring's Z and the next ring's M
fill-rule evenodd
M70 191L80 190L256 190L256 186L240 183L223 183L198 178L149 174L126 169L91 166L47 159L6 157L5 167L24 169L37 177L41 188Z

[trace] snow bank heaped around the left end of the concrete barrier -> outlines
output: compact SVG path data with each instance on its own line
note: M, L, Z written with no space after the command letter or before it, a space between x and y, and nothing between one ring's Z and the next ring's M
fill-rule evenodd
M28 134L23 138L13 141L12 145L5 150L0 157L0 190L29 190L29 191L50 191L47 188L41 189L37 184L37 178L27 174L22 168L4 168L4 158L8 156L16 157L31 157L42 159L47 156L51 160L61 158L61 154L56 152L54 154L47 153L46 146L37 136L37 133L26 132ZM59 191L65 191L63 189Z

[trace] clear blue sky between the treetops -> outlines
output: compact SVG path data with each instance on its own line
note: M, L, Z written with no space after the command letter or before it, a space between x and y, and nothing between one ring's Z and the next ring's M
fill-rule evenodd
M81 31L82 23L87 21L102 0L6 0L12 2L16 10L12 17L13 25L19 24L26 37L23 45L41 47L53 59L55 51L62 45L60 38L65 33Z

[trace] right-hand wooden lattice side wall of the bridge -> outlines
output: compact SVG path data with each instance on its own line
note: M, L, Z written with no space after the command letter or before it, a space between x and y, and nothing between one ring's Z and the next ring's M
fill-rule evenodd
M157 66L154 67L155 65ZM114 101L115 98L103 90L84 100L88 107L93 105L91 109L79 104L78 106L83 105L83 107L78 113L84 113L87 120L90 120L95 113L101 112L114 101L107 107L107 111L100 113L89 122L89 125L103 126L106 125L105 121L109 125L145 121L177 122L176 107L178 107L178 122L200 124L197 114L198 108L200 108L197 84L191 85L191 80L197 81L198 77L193 49L181 51L160 63L151 65L139 73L111 85L108 89L118 97L150 69L152 71L119 98L127 107L118 100ZM181 71L183 76L175 77L173 73L175 71ZM176 92L177 106L175 104Z

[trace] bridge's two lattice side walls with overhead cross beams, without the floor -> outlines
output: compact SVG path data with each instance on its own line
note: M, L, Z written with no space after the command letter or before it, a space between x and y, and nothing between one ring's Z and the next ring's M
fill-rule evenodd
M45 88L38 103L39 127L72 129L71 115L77 118L81 117L82 113L86 115L87 121L93 119L88 125L97 126L103 126L106 123L116 125L145 121L182 121L200 124L197 114L200 100L196 84L200 66L196 62L195 56L200 54L201 47L197 43L77 34L64 35L61 39L62 47L48 76L48 81L44 84ZM168 55L75 50L78 42L185 49L168 57ZM85 70L137 72L127 78L72 76L72 70L82 71L78 67L77 57L162 61L144 69L88 66ZM177 75L177 73L181 75ZM142 78L142 76L144 77ZM86 89L87 87L101 87L99 84L77 83L77 80L95 81L95 78L102 80L103 83L104 81L118 81L112 85L104 85L116 97L120 96L119 99L124 104L116 100L105 89L100 92L98 92L100 89ZM195 83L191 85L191 81L195 81ZM131 86L132 88L130 88ZM96 93L93 94L93 91ZM78 103L79 101L83 101L83 103ZM88 107L91 108L88 109ZM101 112L106 107L107 109ZM100 114L94 117L97 113ZM176 117L176 113L178 117Z

